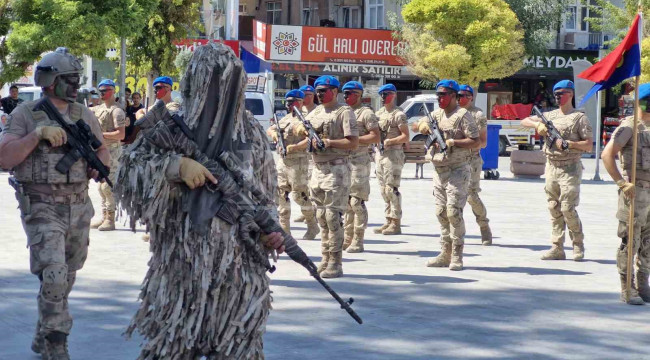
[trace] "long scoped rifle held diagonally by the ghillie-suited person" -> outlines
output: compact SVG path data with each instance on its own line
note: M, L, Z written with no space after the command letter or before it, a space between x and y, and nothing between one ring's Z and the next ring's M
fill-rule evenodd
M181 125L182 123L182 125ZM194 136L180 116L171 116L165 104L157 101L151 111L139 120L143 129L144 137L148 142L160 149L174 151L183 156L190 157L203 166L217 179L217 184L207 184L203 188L211 193L219 194L215 197L216 203L209 204L209 209L200 209L202 213L215 209L215 215L221 220L234 225L239 224L239 237L244 242L244 247L250 251L251 256L264 264L270 272L275 271L271 266L266 252L262 249L260 241L252 234L270 234L278 232L284 239L285 251L289 257L305 267L309 274L316 279L327 290L334 299L341 305L341 308L354 318L359 324L363 320L350 307L354 299L344 301L329 285L320 277L316 265L307 257L307 254L298 246L296 240L286 233L271 213L272 200L265 191L259 188L253 181L251 175L247 174L239 165L239 158L230 151L222 151L211 159L201 151L198 144L192 140ZM200 190L196 189L194 191ZM250 192L251 195L248 195ZM196 206L196 205L194 205ZM191 212L190 212L191 214Z

